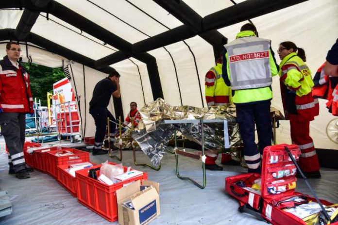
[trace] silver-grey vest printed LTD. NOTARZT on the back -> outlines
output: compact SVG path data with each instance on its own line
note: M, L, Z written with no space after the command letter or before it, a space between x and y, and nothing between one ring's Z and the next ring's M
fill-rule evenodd
M270 40L241 37L224 47L228 52L232 90L271 85Z

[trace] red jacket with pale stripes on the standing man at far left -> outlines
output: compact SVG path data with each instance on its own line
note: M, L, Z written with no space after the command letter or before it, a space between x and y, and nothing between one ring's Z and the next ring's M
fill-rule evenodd
M3 112L33 113L29 74L19 64L15 67L7 56L0 61L0 108Z

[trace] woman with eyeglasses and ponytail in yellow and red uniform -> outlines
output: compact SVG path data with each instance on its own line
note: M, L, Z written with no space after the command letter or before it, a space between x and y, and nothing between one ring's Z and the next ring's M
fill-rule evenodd
M318 157L310 137L310 121L319 114L319 104L312 97L314 83L304 63L305 51L286 41L279 44L277 53L282 60L278 74L285 117L290 120L292 143L302 151L299 165L307 178L320 178Z

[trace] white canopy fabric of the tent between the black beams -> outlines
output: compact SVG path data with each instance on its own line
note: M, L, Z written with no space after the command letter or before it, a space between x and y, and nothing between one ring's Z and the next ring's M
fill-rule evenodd
M152 0L56 0L68 9L84 16L101 28L111 32L122 40L132 44L146 40L155 35L178 28L183 23ZM259 0L235 0L249 2ZM204 17L233 6L230 0L184 0L197 14ZM255 9L252 9L253 11ZM0 10L0 29L16 29L22 16L18 8ZM314 74L317 68L325 61L326 53L338 37L338 4L336 0L308 0L302 3L271 12L269 14L251 18L257 27L259 36L272 40L272 49L276 52L278 44L283 41L292 41L305 50L307 64ZM248 13L248 12L244 12ZM224 15L225 17L227 15ZM239 28L247 21L230 25L217 30L232 41ZM83 29L84 30L84 29ZM41 12L31 29L34 33L61 47L72 50L94 61L111 55L121 49L105 43L103 39L84 32L59 17ZM0 44L1 52L5 52L5 43ZM112 40L114 42L115 40ZM25 42L22 42L25 43ZM83 65L74 58L66 59L54 53L48 47L36 46L28 42L28 54L22 46L22 57L28 61L27 55L37 64L50 67L72 67L72 85L76 86L77 96L80 99L81 117L83 120L84 136L93 136L94 122L88 114L89 101L95 84L106 74ZM35 46L35 47L34 47ZM44 50L45 49L45 50ZM160 83L164 99L171 105L206 106L204 96L204 76L215 64L213 46L201 36L196 35L162 48L155 48L147 53L156 60ZM51 51L51 52L50 52ZM124 116L129 111L129 103L135 101L138 107L153 101L153 86L151 85L150 71L147 64L139 58L131 57L110 66L121 74L121 99ZM277 56L277 63L280 62ZM34 74L32 75L34 76ZM272 106L281 110L278 77L272 84L274 97ZM201 96L202 93L202 96ZM86 107L85 107L86 105ZM311 122L311 136L317 148L338 149L326 136L326 125L334 117L325 108L325 101L320 100L321 112L315 121ZM86 109L86 111L84 111ZM113 111L113 107L110 106ZM85 118L85 123L84 123ZM282 121L277 130L279 143L290 143L288 121Z

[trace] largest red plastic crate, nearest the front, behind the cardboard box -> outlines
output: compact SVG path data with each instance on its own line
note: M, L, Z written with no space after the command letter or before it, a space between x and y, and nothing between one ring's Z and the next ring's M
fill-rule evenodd
M116 163L109 162L109 164L116 165ZM100 165L91 168L99 168ZM116 199L116 191L123 187L123 185L135 180L147 180L147 173L133 177L113 185L107 185L101 181L88 177L88 170L91 168L76 171L77 183L77 197L78 201L87 208L98 213L106 220L113 222L118 220L118 203ZM127 167L123 166L124 172ZM100 171L96 172L99 177Z

